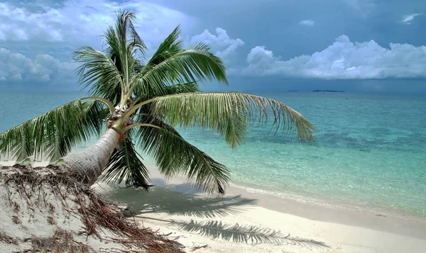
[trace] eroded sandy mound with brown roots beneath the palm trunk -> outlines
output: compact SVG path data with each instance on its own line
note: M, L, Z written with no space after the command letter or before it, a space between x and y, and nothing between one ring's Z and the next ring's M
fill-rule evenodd
M0 169L2 252L183 252L60 167Z

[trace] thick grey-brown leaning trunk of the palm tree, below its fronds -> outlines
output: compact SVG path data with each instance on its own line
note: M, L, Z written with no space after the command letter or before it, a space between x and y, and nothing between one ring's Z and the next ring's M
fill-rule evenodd
M120 134L109 128L91 147L62 157L62 166L75 173L84 183L92 185L102 174L119 138Z

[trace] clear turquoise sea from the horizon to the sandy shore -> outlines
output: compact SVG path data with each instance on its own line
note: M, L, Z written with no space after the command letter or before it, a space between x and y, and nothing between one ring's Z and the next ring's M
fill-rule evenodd
M231 150L209 130L182 132L226 164L234 184L322 203L426 213L426 96L258 95L288 104L320 133L302 144L267 126L252 128L244 145ZM0 131L80 96L3 92Z

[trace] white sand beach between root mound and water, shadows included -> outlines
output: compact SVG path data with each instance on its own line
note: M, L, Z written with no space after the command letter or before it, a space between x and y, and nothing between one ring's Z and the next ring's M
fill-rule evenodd
M144 227L185 245L186 252L425 252L426 221L297 203L230 187L205 196L180 179L138 189L95 184L107 198L129 203Z

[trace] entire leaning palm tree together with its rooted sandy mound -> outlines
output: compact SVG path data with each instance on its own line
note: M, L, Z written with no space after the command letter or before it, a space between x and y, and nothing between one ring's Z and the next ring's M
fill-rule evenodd
M0 198L9 199L0 201L0 218L8 228L0 228L1 249L182 252L176 242L126 220L118 206L90 186L102 176L148 189L142 150L165 176L184 174L204 191L224 193L228 169L187 142L177 127L215 130L236 147L249 124L271 119L276 130L313 139L315 127L283 103L236 92L201 92L201 82L227 84L224 64L204 43L184 48L179 27L146 60L133 20L129 11L118 13L104 35L103 52L92 47L75 51L80 84L89 96L0 134L0 154L18 161L0 167ZM94 137L98 140L86 150L71 152ZM50 165L32 168L25 164L28 157L48 159Z

